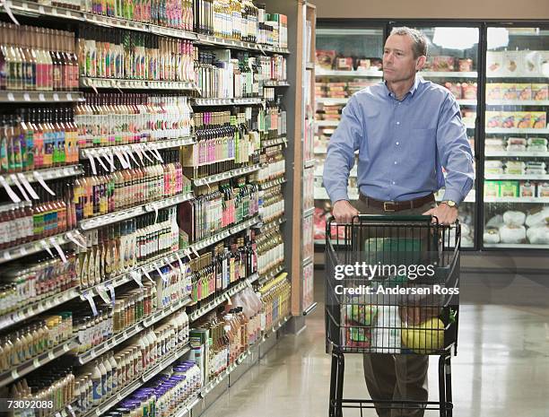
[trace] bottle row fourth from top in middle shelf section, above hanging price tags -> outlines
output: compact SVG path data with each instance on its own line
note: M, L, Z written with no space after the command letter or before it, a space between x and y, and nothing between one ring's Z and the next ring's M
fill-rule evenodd
M118 169L114 172L95 167L92 174L86 166L85 176L74 180L74 206L78 221L94 216L151 203L171 195L188 192L178 151L161 151L163 163L145 161L143 167ZM184 186L185 185L185 186Z

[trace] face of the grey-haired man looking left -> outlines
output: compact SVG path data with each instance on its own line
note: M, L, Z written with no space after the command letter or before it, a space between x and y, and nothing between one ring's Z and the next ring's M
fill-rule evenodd
M423 67L424 57L414 58L414 42L408 36L391 35L383 49L383 77L390 83L414 78Z

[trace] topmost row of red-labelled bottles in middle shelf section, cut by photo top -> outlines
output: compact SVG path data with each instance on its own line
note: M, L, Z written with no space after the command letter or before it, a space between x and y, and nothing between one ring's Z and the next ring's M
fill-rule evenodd
M83 11L173 29L193 30L192 0L85 0Z

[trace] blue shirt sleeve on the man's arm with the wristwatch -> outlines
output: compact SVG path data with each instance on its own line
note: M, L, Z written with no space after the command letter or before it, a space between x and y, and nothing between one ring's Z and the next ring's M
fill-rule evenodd
M451 94L448 94L440 110L437 152L439 161L447 172L442 199L460 204L473 187L475 171L466 127L461 120L457 101Z

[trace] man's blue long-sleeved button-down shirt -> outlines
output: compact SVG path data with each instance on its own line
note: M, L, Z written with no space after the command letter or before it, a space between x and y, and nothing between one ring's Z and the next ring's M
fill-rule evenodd
M324 164L324 186L333 203L349 199L357 150L358 187L377 200L412 200L445 187L443 199L461 203L473 187L473 155L457 101L420 76L403 100L379 83L348 101Z

